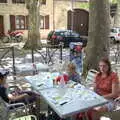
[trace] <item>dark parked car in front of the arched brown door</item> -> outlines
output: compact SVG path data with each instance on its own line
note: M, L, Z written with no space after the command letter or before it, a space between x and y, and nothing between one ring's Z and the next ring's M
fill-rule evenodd
M82 42L83 47L87 45L87 39L82 39L80 35L72 30L50 31L47 38L48 44L58 45L64 43L64 47L69 47L70 42Z

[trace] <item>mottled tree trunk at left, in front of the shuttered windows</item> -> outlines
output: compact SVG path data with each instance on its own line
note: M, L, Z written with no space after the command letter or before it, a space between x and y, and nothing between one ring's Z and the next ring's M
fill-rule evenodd
M28 9L28 40L24 46L27 49L36 49L41 45L40 42L40 2L39 0L26 0Z

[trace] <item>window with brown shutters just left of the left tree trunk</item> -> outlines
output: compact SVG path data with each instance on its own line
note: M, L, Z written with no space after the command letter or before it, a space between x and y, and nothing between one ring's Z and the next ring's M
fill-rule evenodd
M11 30L28 29L28 16L10 15Z

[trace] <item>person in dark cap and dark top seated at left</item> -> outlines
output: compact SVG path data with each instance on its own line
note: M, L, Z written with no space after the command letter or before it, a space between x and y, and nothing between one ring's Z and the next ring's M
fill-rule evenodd
M18 94L11 94L7 95L7 88L5 87L6 78L8 72L7 71L0 71L0 97L8 103L17 103L17 102L24 102L32 103L36 101L37 94L31 91L20 91Z

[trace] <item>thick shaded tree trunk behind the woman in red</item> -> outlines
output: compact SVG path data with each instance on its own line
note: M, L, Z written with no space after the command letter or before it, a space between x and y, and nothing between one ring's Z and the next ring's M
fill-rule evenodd
M83 75L97 69L101 57L109 56L110 4L108 0L90 0L89 35Z

